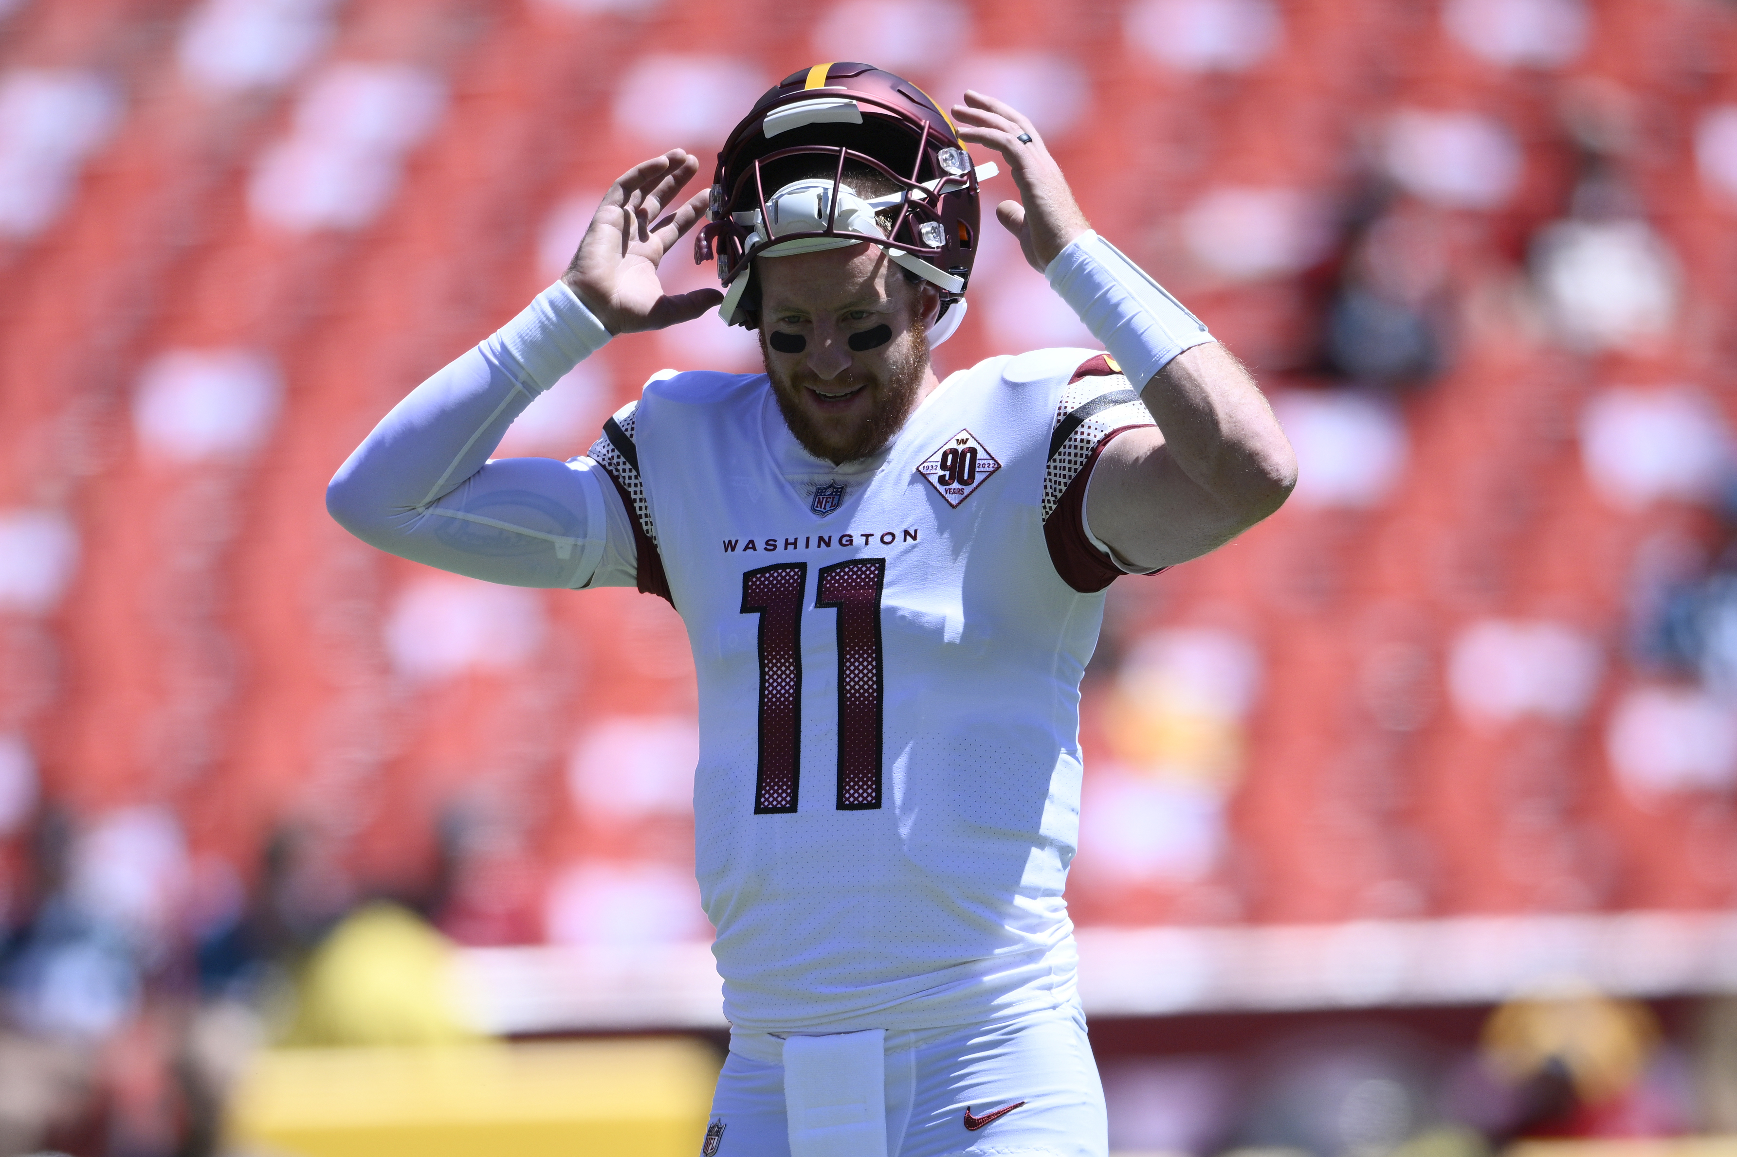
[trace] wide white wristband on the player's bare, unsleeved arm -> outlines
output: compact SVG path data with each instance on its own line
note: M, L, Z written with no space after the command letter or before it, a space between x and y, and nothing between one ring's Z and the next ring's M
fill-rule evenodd
M1096 231L1073 238L1044 276L1136 390L1185 349L1212 340L1199 317Z

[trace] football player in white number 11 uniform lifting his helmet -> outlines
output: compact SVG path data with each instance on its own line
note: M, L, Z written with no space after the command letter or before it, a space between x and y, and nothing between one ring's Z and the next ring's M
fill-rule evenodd
M936 380L978 165L1103 343ZM382 550L519 586L637 586L688 626L700 893L731 1023L705 1154L1106 1152L1063 883L1103 590L1285 500L1242 366L1080 213L1042 134L830 62L775 85L712 184L636 165L566 274L419 385L328 489ZM719 290L658 264L703 219ZM490 460L613 335L719 309L764 373L664 371L589 454Z

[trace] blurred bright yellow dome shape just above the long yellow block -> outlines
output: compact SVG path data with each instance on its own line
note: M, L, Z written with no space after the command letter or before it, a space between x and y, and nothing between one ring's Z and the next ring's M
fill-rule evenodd
M283 1043L459 1044L474 1041L443 935L396 904L351 912L314 951Z

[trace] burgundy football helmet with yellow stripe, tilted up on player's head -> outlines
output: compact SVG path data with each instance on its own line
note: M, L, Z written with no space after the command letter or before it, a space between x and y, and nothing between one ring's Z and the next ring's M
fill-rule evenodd
M896 191L862 196L846 165L877 172ZM945 316L971 279L978 177L994 173L994 165L973 167L952 120L908 80L872 64L816 64L769 88L730 134L693 260L716 257L726 290L719 314L754 330L759 295L743 293L756 257L872 241L940 288ZM891 229L877 212L893 217Z

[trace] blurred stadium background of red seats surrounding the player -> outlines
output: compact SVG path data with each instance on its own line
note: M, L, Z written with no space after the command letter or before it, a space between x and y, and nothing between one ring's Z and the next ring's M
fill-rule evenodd
M1723 0L0 0L0 1152L698 1150L679 621L321 489L618 172L830 59L1028 111L1301 456L1110 595L1113 1147L1737 1152ZM943 373L1091 342L983 238ZM756 363L613 342L502 454Z

